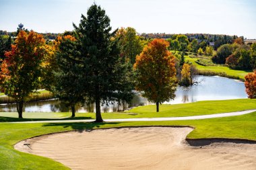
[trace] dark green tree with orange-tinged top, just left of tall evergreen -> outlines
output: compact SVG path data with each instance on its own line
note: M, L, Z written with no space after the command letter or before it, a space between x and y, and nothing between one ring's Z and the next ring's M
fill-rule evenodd
M57 69L54 73L53 93L67 107L71 108L75 117L75 104L84 101L82 82L82 63L79 60L79 44L72 36L63 36L56 55Z

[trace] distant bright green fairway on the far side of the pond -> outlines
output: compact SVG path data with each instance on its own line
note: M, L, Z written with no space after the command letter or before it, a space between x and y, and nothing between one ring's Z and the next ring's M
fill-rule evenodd
M245 75L248 73L251 73L251 71L238 71L238 70L233 70L230 69L229 67L225 66L202 66L198 65L195 60L198 58L190 58L189 56L185 56L185 60L192 62L193 65L197 67L197 69L201 71L213 71L216 73L226 73L226 75L232 76L232 77L239 77L239 79L245 80Z

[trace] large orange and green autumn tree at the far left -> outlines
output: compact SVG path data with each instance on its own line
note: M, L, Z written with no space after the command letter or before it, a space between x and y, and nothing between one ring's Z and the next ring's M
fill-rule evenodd
M1 63L1 90L15 99L19 118L22 118L24 101L39 87L44 45L41 35L20 31Z

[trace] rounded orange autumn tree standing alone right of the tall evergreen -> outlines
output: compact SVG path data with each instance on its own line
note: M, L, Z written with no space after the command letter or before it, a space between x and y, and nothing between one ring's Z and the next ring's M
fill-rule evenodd
M143 48L133 65L136 89L156 103L156 112L160 103L174 99L177 87L174 56L167 50L168 46L166 40L154 39Z

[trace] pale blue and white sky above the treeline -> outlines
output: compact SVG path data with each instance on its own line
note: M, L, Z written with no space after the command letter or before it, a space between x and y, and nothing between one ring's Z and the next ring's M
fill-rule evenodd
M0 0L0 30L22 22L36 32L64 32L79 24L91 0ZM256 38L256 0L97 0L113 29L139 33L209 33Z

